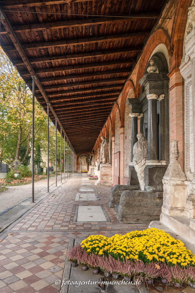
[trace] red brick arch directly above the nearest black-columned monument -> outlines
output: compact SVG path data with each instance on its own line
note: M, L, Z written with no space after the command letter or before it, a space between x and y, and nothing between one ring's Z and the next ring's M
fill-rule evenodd
M139 69L138 69L138 75L136 79L136 90L135 90L135 98L139 98L140 92L141 92L141 86L138 84L138 81L143 77L144 71L146 69L146 66L149 62L149 58L154 51L154 49L160 45L164 44L167 48L167 51L169 53L170 57L170 40L169 40L169 35L163 30L159 29L156 30L148 39L148 42L146 43L146 46L144 47L143 53L141 55L141 61L139 64Z

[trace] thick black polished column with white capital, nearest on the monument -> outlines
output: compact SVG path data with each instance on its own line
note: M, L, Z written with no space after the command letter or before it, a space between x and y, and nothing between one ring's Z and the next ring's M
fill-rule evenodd
M158 162L157 94L147 95L148 99L148 161Z

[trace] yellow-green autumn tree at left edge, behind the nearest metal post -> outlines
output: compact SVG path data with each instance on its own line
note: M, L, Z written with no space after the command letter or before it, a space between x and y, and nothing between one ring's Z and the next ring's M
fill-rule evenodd
M32 93L16 68L0 48L0 148L1 160L24 163L32 139ZM47 126L47 116L35 100L35 139ZM26 151L20 151L25 145ZM21 156L23 154L23 157Z

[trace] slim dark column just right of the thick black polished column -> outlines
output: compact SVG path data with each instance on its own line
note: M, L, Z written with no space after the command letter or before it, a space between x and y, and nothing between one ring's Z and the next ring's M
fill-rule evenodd
M162 94L158 97L158 101L160 103L160 117L159 117L159 134L158 134L158 141L159 141L159 161L165 160L165 149L163 148L163 136L164 136L164 122L163 122L163 113L165 108L164 103L165 95Z

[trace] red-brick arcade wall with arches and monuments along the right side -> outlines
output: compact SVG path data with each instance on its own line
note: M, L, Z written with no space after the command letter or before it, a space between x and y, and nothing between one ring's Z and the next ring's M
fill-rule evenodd
M100 163L101 137L106 137L112 186L134 185L133 145L136 134L143 132L148 140L147 176L153 165L162 175L160 221L194 243L195 3L177 2L176 6L172 6L175 1L165 6L163 15L170 10L172 20L160 20L150 35L93 151L94 161ZM155 72L152 66L157 67ZM120 163L115 173L117 153ZM146 168L145 190L149 190Z

